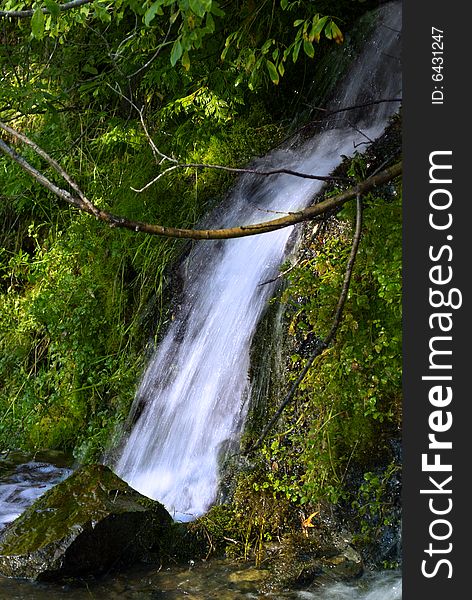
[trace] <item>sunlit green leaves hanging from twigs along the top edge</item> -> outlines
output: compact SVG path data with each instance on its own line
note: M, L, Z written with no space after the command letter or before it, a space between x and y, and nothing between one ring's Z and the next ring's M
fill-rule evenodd
M213 51L220 53L225 62L224 70L232 72L232 85L250 90L269 83L277 85L285 75L287 64L297 63L300 54L313 59L315 45L322 35L336 43L343 40L333 17L315 13L315 6L310 2L281 0L271 10L261 8L253 13L250 4L243 1L239 9L225 5L227 14L216 0L94 0L68 10L62 10L62 4L61 0L31 1L29 5L35 9L30 19L32 37L37 40L51 37L66 44L69 33L78 33L86 23L92 27L95 27L94 20L118 25L126 14L134 13L134 33L129 39L118 40L115 64L118 66L131 58L126 58L129 49L139 52L137 42L143 33L143 40L149 38L146 33L149 31L163 43L160 53L168 64L176 67L180 63L185 71L190 71L191 63L196 64L194 53L201 51L209 36L221 32L226 35L224 45L223 40L218 42L218 38L213 37ZM8 7L24 8L24 3L11 2ZM280 24L283 19L285 29ZM273 27L274 22L280 23ZM296 28L294 33L290 32L290 23ZM267 32L272 35L269 37ZM105 55L112 57L116 50L110 46ZM137 56L135 54L135 62Z

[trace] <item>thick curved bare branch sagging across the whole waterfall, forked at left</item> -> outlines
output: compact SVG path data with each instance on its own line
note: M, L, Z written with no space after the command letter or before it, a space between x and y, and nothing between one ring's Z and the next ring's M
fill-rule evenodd
M3 125L3 129L5 129ZM7 131L7 129L5 129ZM273 219L266 221L265 223L255 223L251 225L240 225L237 227L231 227L227 229L181 229L176 227L165 227L163 225L154 225L151 223L145 223L142 221L132 221L125 217L114 215L108 211L99 209L97 206L87 200L85 194L78 188L77 184L72 180L70 176L63 171L63 169L55 163L55 161L34 142L29 140L23 134L18 133L14 129L8 127L8 132L16 137L17 139L27 143L35 152L42 156L55 170L58 172L65 181L72 187L76 192L77 196L72 195L69 191L58 187L56 184L51 182L47 177L30 165L22 156L17 154L5 141L0 140L0 150L2 150L7 156L15 161L22 169L29 173L38 183L43 187L51 191L53 194L62 198L69 204L76 208L83 210L89 214L94 215L97 219L104 221L110 227L121 227L124 229L130 229L136 232L148 233L150 235L159 235L164 237L172 238L186 238L193 240L221 240L228 238L246 237L249 235L258 235L260 233L267 233L269 231L275 231L290 225L296 225L303 221L309 221L322 215L335 208L341 207L348 200L355 198L358 195L364 194L370 191L378 185L382 185L387 181L390 181L400 175L402 172L401 162L388 167L384 171L378 173L373 177L369 177L365 181L357 184L348 190L323 200L322 202L312 204L308 208L302 209L297 212L292 212L285 217L279 219ZM26 141L27 140L27 141ZM57 167L55 166L57 165ZM71 183L72 182L72 183ZM75 187L74 187L75 186Z

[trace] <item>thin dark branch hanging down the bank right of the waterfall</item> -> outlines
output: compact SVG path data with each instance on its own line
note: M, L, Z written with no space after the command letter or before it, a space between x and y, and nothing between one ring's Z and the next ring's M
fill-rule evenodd
M356 230L354 233L354 237L352 239L351 252L349 255L349 259L347 261L343 286L341 289L341 294L338 299L338 304L336 306L336 312L334 314L334 319L333 319L333 324L331 325L331 329L330 329L328 335L324 338L324 340L318 341L314 351L309 356L300 375L297 377L296 381L294 381L294 383L292 384L287 395L280 403L278 409L275 411L275 414L272 416L270 421L264 427L264 429L262 430L262 433L259 436L259 438L257 439L257 441L252 446L250 446L247 450L245 450L245 452L243 452L244 455L250 454L250 453L254 452L255 450L257 450L258 448L260 448L262 442L267 437L267 434L271 431L271 429L274 427L274 425L280 419L280 416L282 415L282 413L285 410L285 408L287 407L287 405L293 400L295 392L298 390L298 387L301 384L301 382L305 379L305 375L310 370L311 365L313 364L313 361L315 360L315 358L317 356L319 356L324 350L326 350L326 348L328 348L331 345L331 343L334 341L339 324L341 322L344 305L346 304L346 299L347 299L347 295L349 292L349 285L351 283L352 270L354 268L357 251L359 249L359 242L361 239L361 230L362 230L362 201L361 201L360 193L358 193L357 194Z

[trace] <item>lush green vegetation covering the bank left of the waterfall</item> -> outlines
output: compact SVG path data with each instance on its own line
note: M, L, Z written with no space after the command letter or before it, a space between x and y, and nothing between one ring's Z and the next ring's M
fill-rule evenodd
M45 14L42 3L2 2L2 9L35 12L4 21L0 119L13 120L98 206L190 227L232 177L187 169L133 192L158 165L124 96L144 107L159 149L183 162L245 164L282 130L262 102L236 120L241 100L232 99L214 63L196 61L192 74L172 67L169 42L181 39L185 52L188 23L172 2L161 3L170 17L156 10L151 19L146 11L156 4L93 2L58 12L49 2ZM216 2L181 4L208 23L204 9L222 16ZM64 185L32 150L18 150ZM104 229L2 157L0 180L0 446L96 456L128 412L143 346L165 325L166 272L182 246Z

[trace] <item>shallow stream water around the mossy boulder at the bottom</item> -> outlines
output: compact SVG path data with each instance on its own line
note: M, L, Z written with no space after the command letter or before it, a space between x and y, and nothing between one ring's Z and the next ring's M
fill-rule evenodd
M0 530L53 485L71 473L61 453L0 456ZM190 561L158 568L138 565L100 579L68 584L33 583L0 576L1 600L400 600L398 571L368 573L349 583L316 589L260 593L267 571L248 561Z

